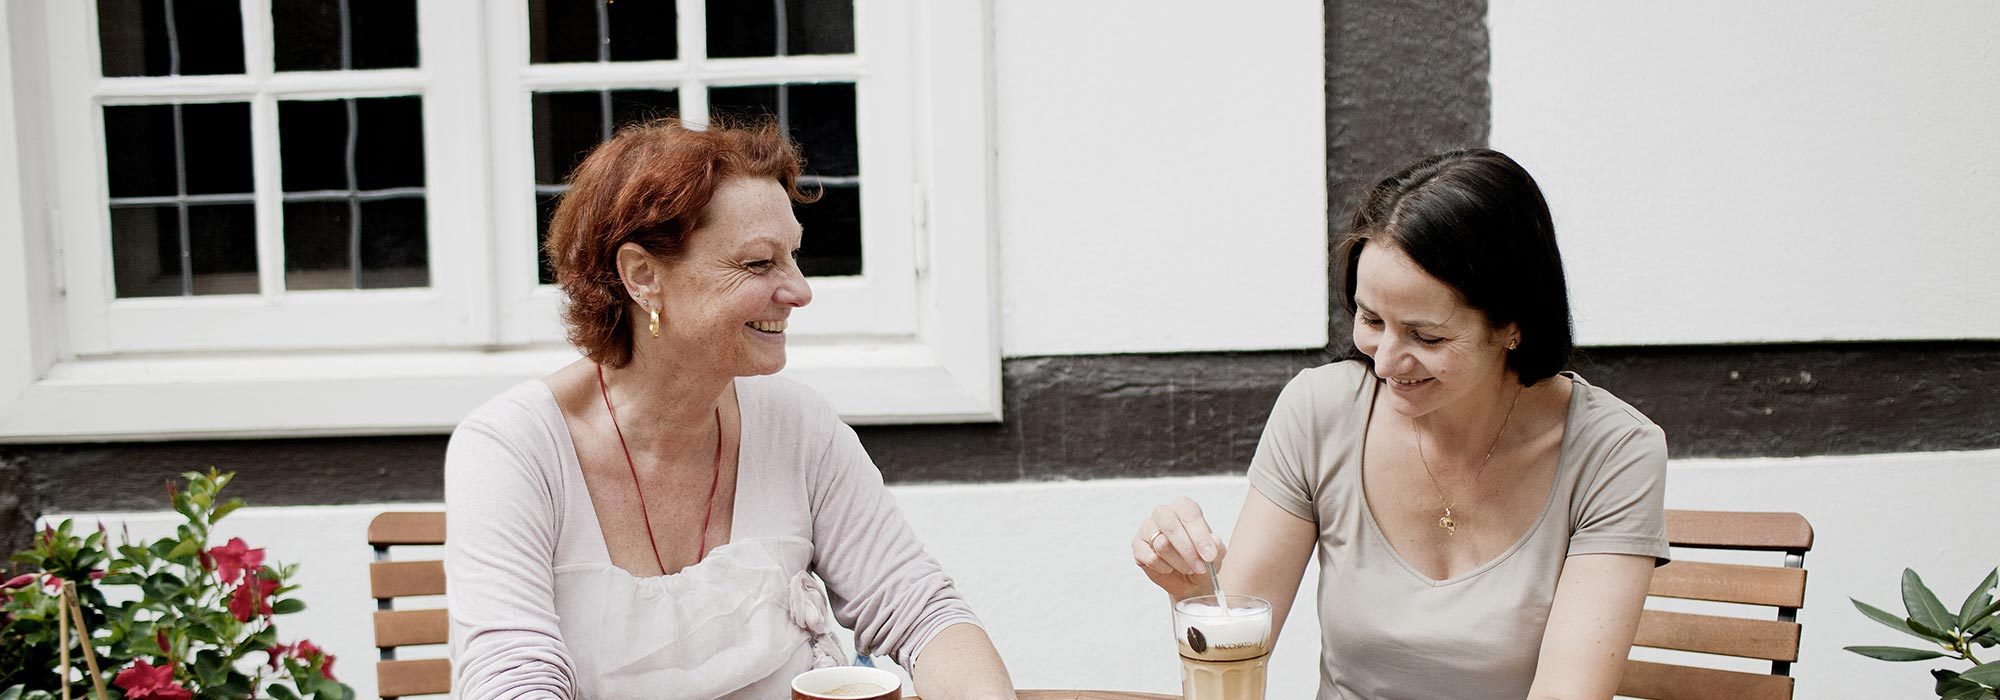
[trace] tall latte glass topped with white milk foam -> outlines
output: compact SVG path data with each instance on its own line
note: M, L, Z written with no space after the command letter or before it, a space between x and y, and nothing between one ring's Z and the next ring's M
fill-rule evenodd
M1270 662L1270 602L1258 596L1196 596L1174 604L1184 700L1264 700Z

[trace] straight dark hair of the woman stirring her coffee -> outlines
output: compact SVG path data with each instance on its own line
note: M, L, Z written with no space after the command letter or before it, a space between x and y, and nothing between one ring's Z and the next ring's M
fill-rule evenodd
M1570 362L1570 292L1556 224L1542 188L1514 158L1486 148L1448 150L1370 188L1334 256L1348 318L1356 264L1370 242L1408 254L1488 324L1520 324L1520 348L1506 354L1506 364L1522 386ZM1358 350L1354 358L1370 360Z

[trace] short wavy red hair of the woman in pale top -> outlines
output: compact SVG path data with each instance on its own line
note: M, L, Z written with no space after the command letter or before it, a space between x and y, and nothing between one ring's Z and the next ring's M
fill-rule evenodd
M570 174L570 192L548 224L548 264L568 294L570 344L592 362L632 362L636 304L618 276L618 246L674 260L700 228L702 210L728 178L770 178L792 202L818 200L798 188L804 162L776 122L682 126L678 118L630 124L598 144Z

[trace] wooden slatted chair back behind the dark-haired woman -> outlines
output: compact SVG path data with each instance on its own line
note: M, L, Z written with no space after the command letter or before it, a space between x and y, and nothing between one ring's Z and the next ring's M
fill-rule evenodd
M1650 596L1778 608L1776 620L1646 610L1634 646L1770 662L1770 674L1626 660L1620 696L1646 700L1790 700L1798 608L1806 604L1812 524L1796 512L1668 510L1676 548L1784 552L1784 566L1676 560L1652 574Z

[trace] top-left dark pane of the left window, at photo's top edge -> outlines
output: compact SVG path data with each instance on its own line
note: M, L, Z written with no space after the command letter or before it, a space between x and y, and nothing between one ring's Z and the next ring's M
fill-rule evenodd
M240 74L242 8L182 0L168 18L166 0L98 0L98 50L104 76Z

